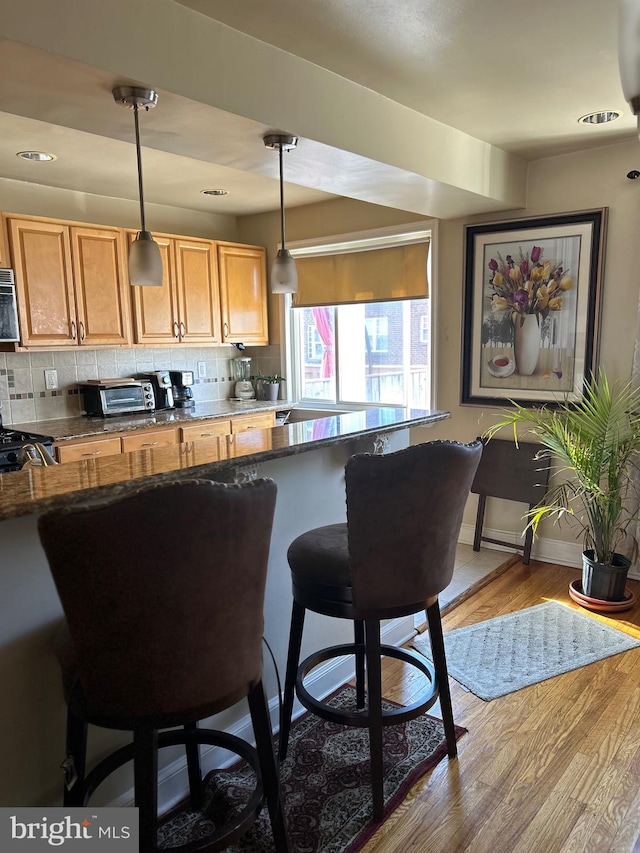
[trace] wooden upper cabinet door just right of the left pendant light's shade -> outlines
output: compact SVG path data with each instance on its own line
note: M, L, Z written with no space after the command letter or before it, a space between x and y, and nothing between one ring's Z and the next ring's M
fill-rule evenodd
M220 299L215 243L176 238L176 283L180 339L219 344Z

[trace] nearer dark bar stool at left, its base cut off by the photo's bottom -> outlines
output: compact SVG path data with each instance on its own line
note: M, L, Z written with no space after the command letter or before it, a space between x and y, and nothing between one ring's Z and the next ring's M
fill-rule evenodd
M199 850L222 850L242 835L265 798L276 850L289 849L262 684L276 491L267 479L190 480L39 520L68 628L58 649L67 693L64 804L85 805L132 760L143 853L157 849L158 748L177 744L185 745L194 808L201 804L200 744L238 754L256 775L242 812L199 839ZM198 727L245 697L255 748ZM132 743L90 772L88 724L133 732Z

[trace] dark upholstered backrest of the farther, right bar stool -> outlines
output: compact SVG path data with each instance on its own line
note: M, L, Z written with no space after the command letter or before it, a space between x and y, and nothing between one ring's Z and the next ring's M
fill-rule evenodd
M401 610L448 586L481 454L480 441L434 441L347 462L349 563L359 610Z

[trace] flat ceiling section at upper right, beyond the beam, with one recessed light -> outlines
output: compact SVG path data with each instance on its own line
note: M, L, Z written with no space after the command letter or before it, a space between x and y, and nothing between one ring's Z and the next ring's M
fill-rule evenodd
M615 0L178 0L525 159L629 136ZM625 113L579 125L596 110Z

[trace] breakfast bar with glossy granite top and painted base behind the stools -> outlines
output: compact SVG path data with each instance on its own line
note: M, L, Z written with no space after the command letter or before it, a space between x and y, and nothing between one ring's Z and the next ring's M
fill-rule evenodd
M277 726L274 663L282 673L291 613L290 543L312 527L345 521L344 466L352 454L400 450L409 444L410 430L414 430L413 442L428 441L429 430L422 428L448 417L439 411L380 408L100 459L25 468L0 476L0 671L5 697L0 703L4 769L0 803L46 807L62 801L65 703L53 651L62 608L38 536L42 513L175 479L242 482L264 476L275 480L278 496L264 605L264 637L274 661L265 656L264 682ZM211 518L211 524L216 523L221 522ZM186 541L191 533L184 525L179 529L173 526L170 519L158 519L158 537ZM100 535L96 530L96 537ZM251 530L228 531L231 543L250 535ZM135 572L145 542L114 541L112 546L114 560L126 561ZM202 560L216 571L215 554L203 553ZM393 571L392 565L389 570ZM344 625L335 624L343 621ZM383 628L383 642L400 644L412 633L412 617L390 620ZM347 620L327 620L310 613L305 622L303 655L350 638ZM327 695L351 677L345 661L319 668L317 679L310 685L315 695ZM215 720L216 726L251 737L249 716L242 703L221 717ZM92 731L89 760L121 743L117 732ZM182 799L188 790L184 758L170 752L163 750L160 757L158 797L162 810ZM203 750L205 772L220 760L215 751ZM132 804L130 777L110 777L93 802L97 806Z

